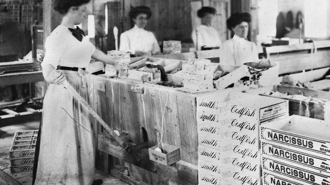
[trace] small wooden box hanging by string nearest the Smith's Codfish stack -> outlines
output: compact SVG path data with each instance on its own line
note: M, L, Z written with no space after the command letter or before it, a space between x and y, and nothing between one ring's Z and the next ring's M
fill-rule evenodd
M180 148L178 147L162 144L160 145L160 149L162 149L164 153L155 151L156 148L158 148L158 145L149 148L150 160L169 166L181 159Z

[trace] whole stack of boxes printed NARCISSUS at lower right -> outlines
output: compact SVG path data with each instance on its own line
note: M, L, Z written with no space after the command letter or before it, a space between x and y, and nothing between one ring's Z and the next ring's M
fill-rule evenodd
M260 125L264 185L330 185L330 124L290 116Z

